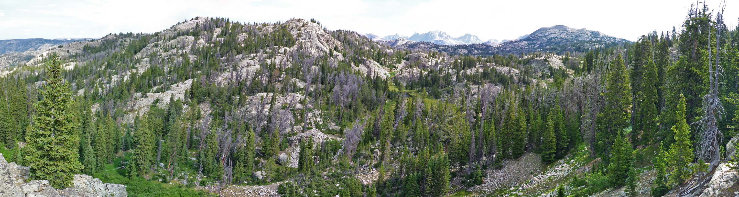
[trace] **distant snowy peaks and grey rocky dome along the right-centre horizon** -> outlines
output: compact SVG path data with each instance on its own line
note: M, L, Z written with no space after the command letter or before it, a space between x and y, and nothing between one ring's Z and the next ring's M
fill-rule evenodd
M486 40L474 35L450 37L444 32L432 31L414 34L411 37L387 35L378 37L368 34L367 38L399 49L423 49L443 51L447 54L500 54L527 53L533 51L587 51L599 46L630 42L626 39L605 35L588 29L574 29L564 25L542 27L516 40ZM397 38L396 38L397 37ZM395 38L395 39L390 39ZM388 40L390 39L390 40Z

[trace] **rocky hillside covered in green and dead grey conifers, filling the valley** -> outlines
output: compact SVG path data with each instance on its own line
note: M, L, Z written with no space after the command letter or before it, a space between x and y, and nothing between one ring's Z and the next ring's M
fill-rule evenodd
M735 196L723 20L473 56L198 17L0 56L0 153L129 196Z

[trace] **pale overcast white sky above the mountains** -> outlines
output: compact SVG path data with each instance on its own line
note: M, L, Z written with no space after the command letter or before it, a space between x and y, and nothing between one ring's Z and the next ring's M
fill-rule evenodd
M717 9L719 0L707 0ZM487 39L515 39L539 27L562 24L636 40L670 31L695 0L0 0L0 40L102 37L113 32L158 32L196 16L275 22L316 18L328 29L379 36L440 30ZM739 0L727 0L726 24L739 17Z

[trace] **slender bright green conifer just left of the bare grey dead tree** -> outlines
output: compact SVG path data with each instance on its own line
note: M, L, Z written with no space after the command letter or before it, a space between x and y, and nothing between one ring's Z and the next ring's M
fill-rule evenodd
M670 145L667 151L667 171L670 172L670 185L678 185L689 179L692 174L687 171L689 164L693 160L692 140L690 140L690 126L685 119L685 97L681 95L678 102L678 112L675 117L678 120L677 125L672 126L672 132L675 133L675 143Z

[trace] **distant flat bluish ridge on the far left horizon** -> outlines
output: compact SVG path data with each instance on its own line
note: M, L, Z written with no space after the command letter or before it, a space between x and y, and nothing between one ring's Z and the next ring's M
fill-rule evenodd
M44 39L44 38L28 38L0 40L0 54L11 52L35 51L38 49L48 49L52 46L63 46L67 43L80 40L97 40L92 38L60 38L60 39Z

